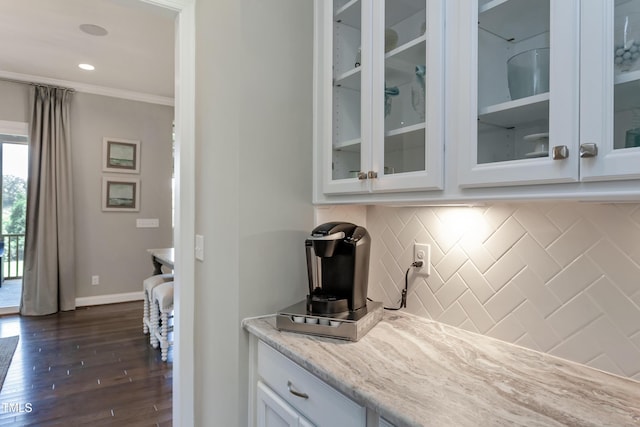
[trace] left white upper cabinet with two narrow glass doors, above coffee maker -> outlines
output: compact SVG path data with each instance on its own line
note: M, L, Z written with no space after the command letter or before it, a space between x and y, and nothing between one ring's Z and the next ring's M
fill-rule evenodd
M443 188L441 0L316 1L325 194Z

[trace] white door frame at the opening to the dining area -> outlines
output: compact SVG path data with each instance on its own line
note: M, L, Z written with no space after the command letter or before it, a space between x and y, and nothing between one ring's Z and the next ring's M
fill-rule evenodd
M178 12L175 32L175 247L173 425L193 426L195 254L195 2L139 0Z

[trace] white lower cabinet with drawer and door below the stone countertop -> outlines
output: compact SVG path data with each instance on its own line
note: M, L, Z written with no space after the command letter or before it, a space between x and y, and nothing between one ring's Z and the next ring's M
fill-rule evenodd
M272 347L258 342L257 425L365 427L367 410Z

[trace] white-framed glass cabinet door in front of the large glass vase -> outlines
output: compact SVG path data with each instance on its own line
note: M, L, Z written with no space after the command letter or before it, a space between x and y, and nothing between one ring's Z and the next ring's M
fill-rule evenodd
M474 8L475 144L462 149L461 184L577 180L569 160L579 126L577 1L479 0Z

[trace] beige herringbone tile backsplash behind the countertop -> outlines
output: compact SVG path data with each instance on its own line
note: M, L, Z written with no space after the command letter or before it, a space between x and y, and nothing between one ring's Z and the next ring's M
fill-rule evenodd
M640 204L318 207L372 236L369 297L397 306L413 244L407 311L640 380Z

